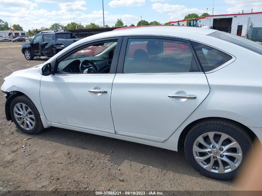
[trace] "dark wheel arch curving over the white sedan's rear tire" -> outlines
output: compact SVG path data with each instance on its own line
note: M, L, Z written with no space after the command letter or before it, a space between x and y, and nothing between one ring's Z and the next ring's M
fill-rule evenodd
M178 150L183 150L184 149L184 142L185 142L185 138L189 132L189 130L195 125L198 124L200 122L204 122L204 121L209 121L209 120L223 120L223 121L227 121L229 123L233 123L233 124L237 124L238 126L242 127L246 133L251 137L252 142L257 139L257 136L255 135L255 133L248 128L247 126L245 126L242 123L239 123L235 120L231 120L231 119L227 119L227 118L222 118L222 117L206 117L206 118L201 118L198 120L195 120L191 123L189 123L184 129L183 131L180 133L179 139L178 139L178 144L177 144L177 149Z

